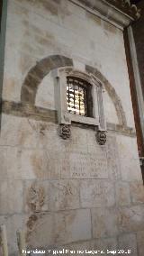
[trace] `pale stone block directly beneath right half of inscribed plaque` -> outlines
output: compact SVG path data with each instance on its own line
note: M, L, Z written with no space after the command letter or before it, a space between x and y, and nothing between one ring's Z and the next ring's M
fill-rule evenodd
M82 207L114 206L114 186L102 180L81 181L80 201Z

